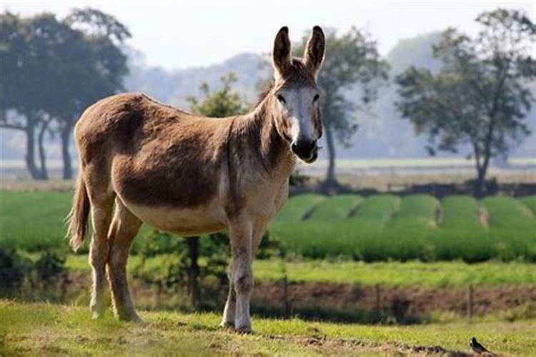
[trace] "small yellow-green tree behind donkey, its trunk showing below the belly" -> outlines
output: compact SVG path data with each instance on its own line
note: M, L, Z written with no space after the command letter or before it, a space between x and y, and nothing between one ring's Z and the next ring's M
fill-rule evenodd
M191 110L194 114L209 116L212 118L223 118L243 114L247 111L247 106L242 103L239 94L232 91L232 84L237 81L237 76L233 73L222 77L223 87L219 91L211 93L209 85L203 83L200 90L204 94L204 99L198 101L194 96L190 96ZM217 239L213 236L212 239ZM221 237L220 237L221 238ZM189 246L190 266L189 266L189 291L192 295L192 305L198 306L199 302L199 237L187 238Z

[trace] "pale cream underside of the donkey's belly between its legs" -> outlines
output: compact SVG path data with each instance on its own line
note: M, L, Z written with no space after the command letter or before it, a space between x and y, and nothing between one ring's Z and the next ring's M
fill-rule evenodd
M124 202L125 206L144 223L180 236L197 236L222 231L227 225L219 209L214 206L173 208L141 206Z

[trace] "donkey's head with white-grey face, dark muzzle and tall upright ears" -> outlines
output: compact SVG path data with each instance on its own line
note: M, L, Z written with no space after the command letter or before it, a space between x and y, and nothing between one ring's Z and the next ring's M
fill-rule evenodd
M279 135L288 141L292 152L307 163L318 157L317 140L322 136L320 91L317 73L324 60L324 32L314 26L302 59L290 55L289 29L279 30L274 41L272 63L274 116Z

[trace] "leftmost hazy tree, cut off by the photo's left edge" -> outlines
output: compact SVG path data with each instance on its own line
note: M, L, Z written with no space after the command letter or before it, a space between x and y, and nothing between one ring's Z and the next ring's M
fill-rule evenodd
M74 31L52 14L20 19L0 16L0 127L26 134L26 166L33 178L46 179L43 138L51 122L49 106L61 89L55 81L61 69L56 56ZM35 131L39 131L41 168L35 164Z

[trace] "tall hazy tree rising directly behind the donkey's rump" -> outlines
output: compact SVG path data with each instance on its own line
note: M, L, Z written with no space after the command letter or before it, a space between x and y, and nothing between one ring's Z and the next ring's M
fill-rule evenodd
M66 69L61 71L66 76L65 102L56 106L55 112L64 162L63 178L72 178L69 141L74 124L86 106L124 90L123 78L128 74L128 66L121 45L131 34L114 16L91 8L74 9L64 23L83 35L83 41L69 44L70 61L64 63Z

